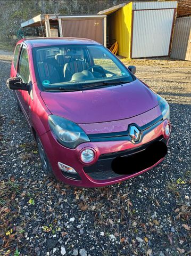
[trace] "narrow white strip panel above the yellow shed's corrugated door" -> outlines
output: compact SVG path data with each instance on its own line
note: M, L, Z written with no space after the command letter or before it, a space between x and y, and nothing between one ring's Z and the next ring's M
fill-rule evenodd
M132 4L132 10L146 10L146 9L167 9L176 8L177 1L165 1L165 2L134 2Z

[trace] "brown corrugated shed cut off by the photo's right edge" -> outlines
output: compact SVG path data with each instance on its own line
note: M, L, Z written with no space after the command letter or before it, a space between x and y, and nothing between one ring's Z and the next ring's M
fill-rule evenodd
M176 19L170 57L191 61L191 17Z

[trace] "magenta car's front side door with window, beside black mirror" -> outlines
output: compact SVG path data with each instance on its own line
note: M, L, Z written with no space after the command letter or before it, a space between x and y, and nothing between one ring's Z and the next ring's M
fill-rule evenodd
M23 83L27 83L27 84L31 83L30 68L29 68L29 55L28 55L27 47L25 45L22 45L22 48L20 50L16 76L21 77ZM28 91L18 90L18 91L16 91L16 95L18 95L23 113L26 116L27 121L29 122L30 105L31 105L31 101L32 101L31 94L29 94Z

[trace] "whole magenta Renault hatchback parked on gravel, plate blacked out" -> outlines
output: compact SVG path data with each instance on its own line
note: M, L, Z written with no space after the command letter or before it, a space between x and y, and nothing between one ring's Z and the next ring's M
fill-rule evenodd
M167 154L169 105L101 44L22 39L7 86L37 141L42 171L102 187L135 177Z

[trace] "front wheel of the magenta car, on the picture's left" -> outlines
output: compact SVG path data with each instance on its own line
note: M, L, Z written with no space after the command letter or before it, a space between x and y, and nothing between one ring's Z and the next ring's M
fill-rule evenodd
M42 168L44 173L46 173L46 175L48 175L48 177L54 177L54 173L51 167L51 164L49 163L48 157L45 153L43 144L40 141L40 138L38 137L38 135L36 136L36 140L37 140L37 146L38 146L38 154L40 157L40 161L42 164Z

